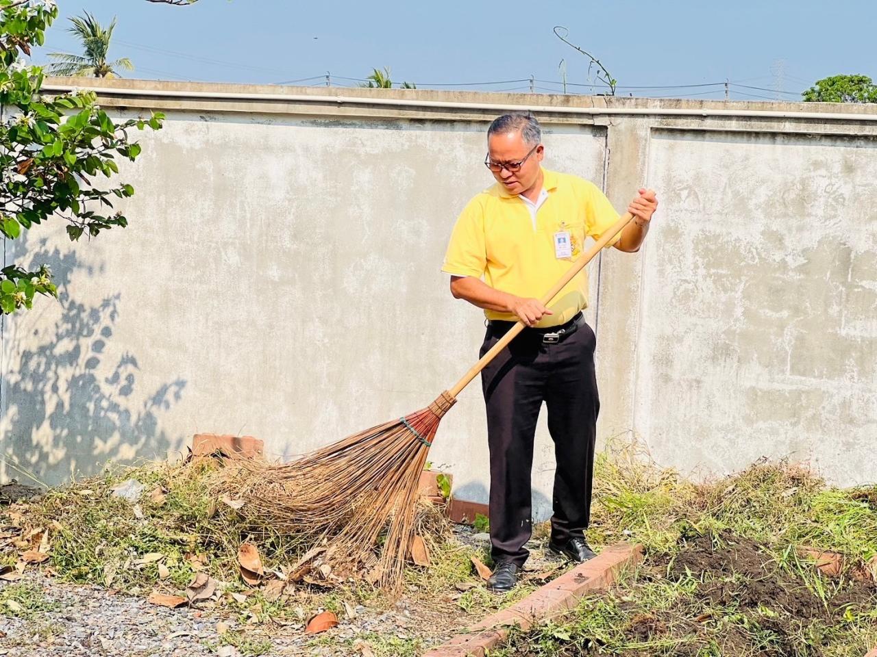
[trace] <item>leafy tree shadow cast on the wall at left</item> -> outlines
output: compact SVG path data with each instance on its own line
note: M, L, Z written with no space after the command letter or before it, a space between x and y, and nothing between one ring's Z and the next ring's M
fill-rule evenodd
M32 255L20 255L25 247L16 244L18 260L35 263L32 268L48 264L59 300L40 298L32 310L5 318L5 478L53 485L95 474L108 461L164 458L175 446L160 429L160 414L179 401L186 381L177 378L142 394L137 356L109 349L121 293L97 305L81 303L68 293L71 275L78 270L91 279L94 268L73 252L48 249L46 240ZM53 303L60 304L60 315L46 313L41 320L40 307ZM31 315L25 318L25 312Z

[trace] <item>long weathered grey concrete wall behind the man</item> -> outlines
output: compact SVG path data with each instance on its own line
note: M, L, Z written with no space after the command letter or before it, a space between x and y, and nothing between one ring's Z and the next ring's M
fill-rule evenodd
M619 209L643 184L660 197L643 250L591 265L602 438L632 434L699 477L790 455L842 484L877 479L873 109L113 85L116 116L168 121L121 173L137 190L129 228L71 247L57 223L5 244L7 263L53 265L62 294L4 319L0 476L52 484L196 432L253 434L289 458L424 406L483 336L439 266L492 180L487 123L538 103L552 107L546 166ZM717 109L731 112L704 116ZM486 500L477 381L431 458L460 497ZM543 418L539 517L552 470Z

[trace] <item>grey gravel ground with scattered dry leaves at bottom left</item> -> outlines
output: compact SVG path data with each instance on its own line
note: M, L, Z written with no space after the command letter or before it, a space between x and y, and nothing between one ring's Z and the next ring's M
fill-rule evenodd
M482 547L488 535L474 533L468 526L456 526L457 540ZM532 541L527 570L531 575L562 571L562 562L545 554L544 541ZM0 609L0 655L8 657L80 657L89 655L146 655L199 657L201 655L360 655L368 652L356 646L359 636L379 634L399 641L423 639L437 645L453 637L478 618L456 608L453 597L435 609L403 598L396 608L372 609L358 606L353 617L341 614L339 625L318 635L305 635L302 622L285 625L240 625L228 611L168 609L146 602L145 597L113 594L96 586L58 583L28 571L16 584L30 583L41 593L39 607L28 618L7 615ZM0 595L13 583L0 582ZM449 611L453 610L453 611ZM217 632L217 623L229 626L229 633ZM235 645L223 645L233 643Z

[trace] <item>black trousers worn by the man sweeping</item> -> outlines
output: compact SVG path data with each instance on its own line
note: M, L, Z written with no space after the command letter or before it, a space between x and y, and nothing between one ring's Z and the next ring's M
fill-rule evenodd
M510 329L488 326L481 356ZM542 402L554 442L552 540L565 543L588 527L594 443L600 400L594 371L594 331L583 320L560 343L543 343L524 329L481 371L488 413L490 542L494 562L521 566L530 554L533 438Z

